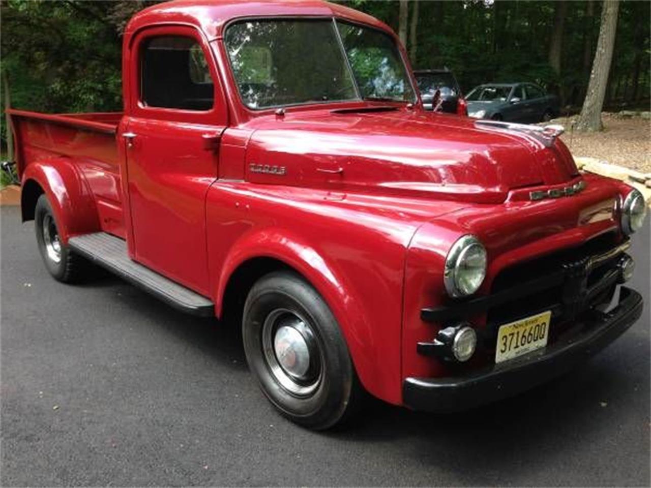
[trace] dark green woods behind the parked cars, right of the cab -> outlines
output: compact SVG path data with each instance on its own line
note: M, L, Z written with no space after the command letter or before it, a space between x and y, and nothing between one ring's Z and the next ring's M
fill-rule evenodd
M555 1L419 1L418 49L413 68L447 66L464 92L480 83L532 81L552 92L562 92L568 105L583 103L599 34L601 1L594 1L592 18L587 16L587 1L568 1L561 74L553 71L547 59ZM398 31L397 1L339 3L379 18ZM412 11L410 7L409 21ZM648 103L649 30L648 1L622 1L611 69L611 102L631 102L644 96ZM587 38L592 51L585 68ZM637 94L633 92L636 63ZM623 87L616 90L618 83L626 83L626 95Z

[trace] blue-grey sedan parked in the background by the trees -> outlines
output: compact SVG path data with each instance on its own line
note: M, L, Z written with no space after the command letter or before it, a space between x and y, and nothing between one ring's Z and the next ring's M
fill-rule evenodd
M466 96L468 115L506 122L547 122L559 115L559 98L533 83L479 85Z

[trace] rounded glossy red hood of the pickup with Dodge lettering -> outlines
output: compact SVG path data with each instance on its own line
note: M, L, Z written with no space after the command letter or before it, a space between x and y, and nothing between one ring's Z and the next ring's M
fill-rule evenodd
M251 182L497 203L511 189L577 174L561 141L455 115L297 111L256 118L251 128Z

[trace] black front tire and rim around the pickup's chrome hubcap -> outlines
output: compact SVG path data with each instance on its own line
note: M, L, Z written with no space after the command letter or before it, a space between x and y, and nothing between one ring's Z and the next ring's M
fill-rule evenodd
M309 367L297 378L284 369L284 355L279 359L277 353L279 331L288 323L296 325L289 329L301 331L296 333L310 346ZM256 282L244 305L242 339L262 392L296 424L327 429L348 420L359 407L363 390L337 320L319 293L298 275L277 271ZM294 365L300 363L298 353L288 356Z

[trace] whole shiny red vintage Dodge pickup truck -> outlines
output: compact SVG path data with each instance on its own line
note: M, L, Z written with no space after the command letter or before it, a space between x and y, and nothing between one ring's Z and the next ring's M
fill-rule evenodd
M641 194L539 128L428 113L387 25L328 3L163 3L124 33L124 113L10 111L49 272L90 262L242 324L288 418L363 392L464 409L613 341L643 300ZM81 291L80 291L81 292Z

